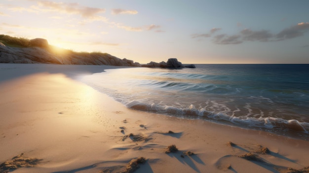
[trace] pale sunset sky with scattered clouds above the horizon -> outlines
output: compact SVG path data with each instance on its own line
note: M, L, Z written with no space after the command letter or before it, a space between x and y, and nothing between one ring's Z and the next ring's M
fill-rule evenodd
M0 34L141 64L309 64L309 0L1 0Z

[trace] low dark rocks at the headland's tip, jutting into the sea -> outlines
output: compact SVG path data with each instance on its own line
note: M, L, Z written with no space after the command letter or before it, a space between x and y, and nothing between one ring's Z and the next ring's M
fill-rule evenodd
M148 67L148 68L195 68L193 64L191 65L183 65L181 62L177 60L177 58L169 58L167 62L164 61L160 63L150 62L146 65L142 65L142 67Z

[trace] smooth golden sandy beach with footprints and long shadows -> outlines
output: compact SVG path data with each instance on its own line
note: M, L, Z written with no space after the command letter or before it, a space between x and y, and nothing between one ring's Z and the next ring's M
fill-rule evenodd
M131 110L74 80L109 68L0 64L0 173L130 173L136 166L134 173L288 173L309 166L308 141ZM178 151L166 152L173 144Z

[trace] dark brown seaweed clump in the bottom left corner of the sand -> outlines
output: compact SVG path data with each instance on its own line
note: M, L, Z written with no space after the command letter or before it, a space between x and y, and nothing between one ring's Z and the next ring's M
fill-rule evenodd
M21 153L18 156L13 157L9 161L5 161L0 164L0 173L12 172L18 168L31 168L37 165L42 159L37 158L25 158L23 157L24 153Z

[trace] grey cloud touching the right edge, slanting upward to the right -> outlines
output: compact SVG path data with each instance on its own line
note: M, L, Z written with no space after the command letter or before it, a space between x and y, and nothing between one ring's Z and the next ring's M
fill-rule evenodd
M309 23L302 22L290 28L286 28L282 30L280 33L276 35L276 38L278 38L279 40L291 39L291 38L303 36L304 33L308 31L309 31Z

